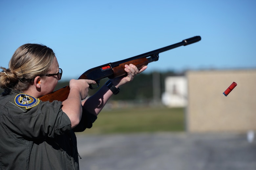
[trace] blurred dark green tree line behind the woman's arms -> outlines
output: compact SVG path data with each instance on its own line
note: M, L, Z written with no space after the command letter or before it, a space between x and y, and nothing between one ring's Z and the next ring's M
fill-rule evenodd
M151 73L140 73L134 80L128 84L120 87L118 95L113 95L111 100L153 100L154 97L161 98L161 94L164 92L164 81L169 76L182 76L184 72L177 73L175 71L166 72L151 72ZM99 88L105 84L108 78L100 81ZM154 84L153 84L154 80ZM56 86L56 89L69 85L69 81L60 81ZM154 86L154 87L153 87ZM92 96L99 89L89 89L89 96ZM158 94L154 94L153 88L159 88ZM158 95L158 96L154 96Z

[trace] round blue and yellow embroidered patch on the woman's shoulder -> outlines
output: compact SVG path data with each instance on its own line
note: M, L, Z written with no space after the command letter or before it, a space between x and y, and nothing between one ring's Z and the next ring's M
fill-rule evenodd
M36 99L33 96L30 96L28 94L21 93L15 97L14 102L17 106L25 107L26 109L30 109L30 108L36 106L40 102L40 100Z

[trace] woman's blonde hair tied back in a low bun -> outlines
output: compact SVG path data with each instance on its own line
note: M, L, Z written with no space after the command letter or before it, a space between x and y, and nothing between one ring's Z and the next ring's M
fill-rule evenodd
M51 70L55 54L42 44L24 44L12 55L9 68L0 67L0 88L25 90L36 76L44 76Z

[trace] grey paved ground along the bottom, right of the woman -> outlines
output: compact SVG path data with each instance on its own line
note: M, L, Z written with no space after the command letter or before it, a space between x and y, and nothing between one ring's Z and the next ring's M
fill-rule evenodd
M81 170L256 170L246 134L77 135Z

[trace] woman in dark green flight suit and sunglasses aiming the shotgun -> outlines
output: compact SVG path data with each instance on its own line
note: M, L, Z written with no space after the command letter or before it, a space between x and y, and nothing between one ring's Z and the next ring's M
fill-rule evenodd
M1 169L79 169L76 131L91 128L113 92L146 69L125 65L127 76L112 79L86 99L93 80L70 80L67 100L43 102L61 79L53 50L24 44L0 72ZM114 87L109 88L109 84ZM84 100L86 99L86 100Z

